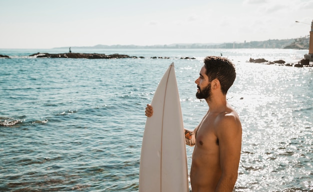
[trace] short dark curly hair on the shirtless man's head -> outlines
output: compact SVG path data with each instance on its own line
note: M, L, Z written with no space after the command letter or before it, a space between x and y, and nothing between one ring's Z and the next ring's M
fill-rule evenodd
M204 66L208 80L218 79L221 92L226 95L236 78L234 65L225 57L207 56L204 58Z

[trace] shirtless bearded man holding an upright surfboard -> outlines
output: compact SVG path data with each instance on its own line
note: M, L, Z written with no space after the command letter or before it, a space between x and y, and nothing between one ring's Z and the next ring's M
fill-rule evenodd
M200 70L196 98L205 99L208 111L193 130L185 129L186 145L194 146L190 169L192 192L232 192L238 175L241 123L227 103L226 93L235 79L233 64L208 56ZM145 115L151 117L152 106Z

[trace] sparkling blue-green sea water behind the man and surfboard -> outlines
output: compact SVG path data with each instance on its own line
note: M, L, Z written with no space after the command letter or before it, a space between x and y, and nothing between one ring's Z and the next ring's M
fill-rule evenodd
M195 98L202 59L232 60L237 78L227 94L242 124L235 192L313 192L313 67L291 49L74 49L143 59L31 58L67 49L0 49L0 192L136 192L146 117L171 62L184 127L208 107ZM152 59L150 57L169 57ZM180 57L195 59L179 59ZM186 147L190 171L192 147Z

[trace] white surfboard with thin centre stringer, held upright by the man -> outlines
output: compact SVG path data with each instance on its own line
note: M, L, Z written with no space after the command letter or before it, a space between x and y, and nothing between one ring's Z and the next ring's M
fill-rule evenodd
M139 192L188 192L182 114L171 63L151 101L145 123L139 169Z

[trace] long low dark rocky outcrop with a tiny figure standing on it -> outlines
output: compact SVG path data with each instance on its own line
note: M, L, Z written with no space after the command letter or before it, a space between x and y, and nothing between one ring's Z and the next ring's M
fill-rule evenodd
M100 54L100 53L34 53L29 55L35 58L85 58L85 59L117 59L117 58L137 58L136 56L128 56L122 54Z

